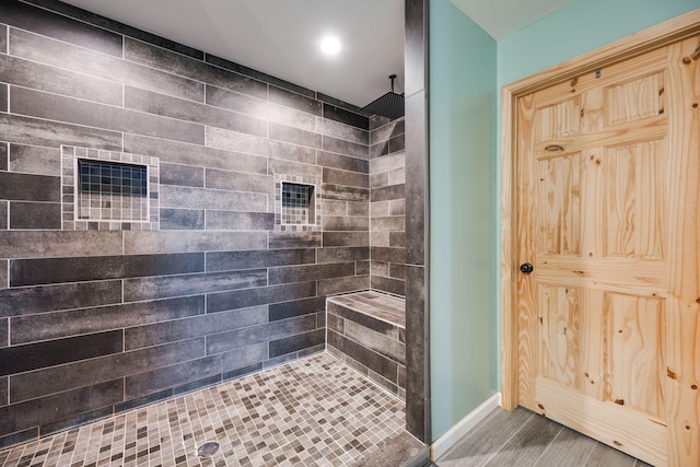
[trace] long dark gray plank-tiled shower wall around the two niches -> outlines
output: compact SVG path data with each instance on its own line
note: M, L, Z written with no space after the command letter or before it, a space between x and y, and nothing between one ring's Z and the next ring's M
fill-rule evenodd
M0 10L0 446L324 349L325 296L371 285L369 119L54 0ZM159 157L160 230L62 230L61 145ZM276 230L276 175L323 179L323 232Z

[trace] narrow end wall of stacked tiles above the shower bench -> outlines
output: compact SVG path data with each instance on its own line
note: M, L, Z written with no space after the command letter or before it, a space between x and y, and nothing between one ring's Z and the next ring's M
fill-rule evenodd
M406 156L404 118L370 119L372 289L405 295Z

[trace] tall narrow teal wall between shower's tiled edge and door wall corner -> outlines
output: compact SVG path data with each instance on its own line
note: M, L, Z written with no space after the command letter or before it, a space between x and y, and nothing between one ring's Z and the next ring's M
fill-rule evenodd
M430 2L430 361L433 440L497 392L497 44Z

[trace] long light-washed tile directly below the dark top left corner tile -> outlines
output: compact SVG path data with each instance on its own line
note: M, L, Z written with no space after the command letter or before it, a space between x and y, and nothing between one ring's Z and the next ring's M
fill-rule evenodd
M10 52L40 63L196 102L203 102L205 97L201 82L20 30L10 31Z

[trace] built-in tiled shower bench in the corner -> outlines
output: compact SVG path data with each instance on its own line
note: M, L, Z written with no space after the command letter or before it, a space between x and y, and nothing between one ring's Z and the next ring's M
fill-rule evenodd
M370 290L326 299L328 351L406 396L406 301Z

